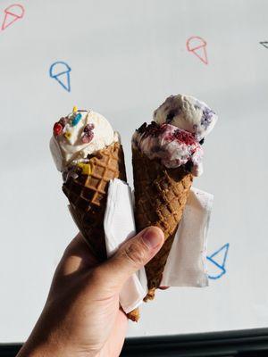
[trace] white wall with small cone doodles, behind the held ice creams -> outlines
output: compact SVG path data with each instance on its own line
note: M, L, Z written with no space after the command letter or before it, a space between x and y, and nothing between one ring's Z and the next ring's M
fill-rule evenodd
M0 3L0 24L4 8ZM171 288L147 303L130 336L268 326L266 1L22 1L0 31L0 341L24 340L57 262L76 234L48 141L74 104L130 137L167 95L197 96L220 120L195 186L214 194L208 253L230 243L226 274L210 287ZM208 64L186 48L207 42ZM71 92L49 77L71 67Z

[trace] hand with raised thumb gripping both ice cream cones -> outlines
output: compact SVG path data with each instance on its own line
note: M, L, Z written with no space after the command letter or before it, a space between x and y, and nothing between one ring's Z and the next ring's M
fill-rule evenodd
M119 356L128 319L119 305L124 282L159 251L160 228L146 228L98 264L80 234L54 273L46 305L17 357Z

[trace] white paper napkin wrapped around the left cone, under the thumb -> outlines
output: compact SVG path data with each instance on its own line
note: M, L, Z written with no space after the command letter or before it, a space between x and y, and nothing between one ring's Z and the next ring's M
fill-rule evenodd
M135 220L130 187L120 179L110 181L105 210L105 243L107 256L135 235ZM145 269L133 274L124 284L119 300L126 313L136 309L147 295Z

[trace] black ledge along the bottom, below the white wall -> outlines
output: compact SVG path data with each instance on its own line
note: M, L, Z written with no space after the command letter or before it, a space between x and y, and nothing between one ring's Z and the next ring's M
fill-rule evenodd
M14 357L21 344L0 344L0 357ZM268 328L180 336L128 338L121 357L268 357Z

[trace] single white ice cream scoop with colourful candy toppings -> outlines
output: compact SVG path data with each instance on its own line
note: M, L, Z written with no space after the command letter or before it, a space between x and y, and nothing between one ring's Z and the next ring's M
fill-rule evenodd
M118 133L104 116L74 107L71 114L54 123L50 150L57 170L64 172L118 140Z

